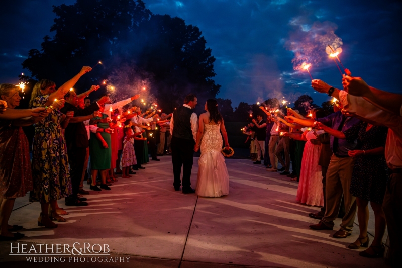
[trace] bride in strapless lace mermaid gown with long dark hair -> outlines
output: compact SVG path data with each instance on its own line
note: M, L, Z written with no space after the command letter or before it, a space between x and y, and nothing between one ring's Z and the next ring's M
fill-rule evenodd
M225 148L229 149L222 115L218 111L216 100L205 103L206 113L199 116L197 141L194 151L201 148L198 160L197 187L195 193L203 197L220 197L229 194L229 174L222 151L222 131ZM201 145L200 145L201 144Z

